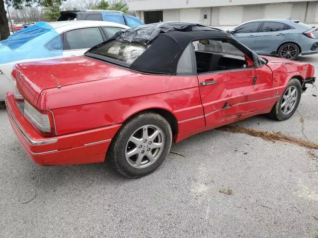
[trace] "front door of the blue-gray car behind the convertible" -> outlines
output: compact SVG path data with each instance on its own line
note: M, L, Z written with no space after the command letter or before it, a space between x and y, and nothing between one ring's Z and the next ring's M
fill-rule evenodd
M233 37L238 40L243 45L247 46L252 51L255 50L255 40L258 34L259 21L248 22L242 25L239 25L234 30L231 31Z

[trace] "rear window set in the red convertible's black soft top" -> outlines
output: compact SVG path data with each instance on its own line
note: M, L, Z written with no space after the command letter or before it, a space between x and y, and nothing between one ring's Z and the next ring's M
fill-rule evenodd
M119 60L125 64L132 64L148 48L145 43L130 43L121 41L111 41L100 47L90 50L88 53L97 56Z

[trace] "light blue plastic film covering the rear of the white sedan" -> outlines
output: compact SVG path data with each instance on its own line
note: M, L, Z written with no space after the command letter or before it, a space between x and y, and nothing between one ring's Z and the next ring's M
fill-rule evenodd
M0 41L0 64L62 55L61 38L46 22L38 22Z

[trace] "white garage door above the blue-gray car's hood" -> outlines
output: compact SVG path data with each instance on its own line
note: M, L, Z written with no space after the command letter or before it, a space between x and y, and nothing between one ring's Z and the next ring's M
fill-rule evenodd
M220 25L237 25L242 22L242 6L223 6L220 7Z

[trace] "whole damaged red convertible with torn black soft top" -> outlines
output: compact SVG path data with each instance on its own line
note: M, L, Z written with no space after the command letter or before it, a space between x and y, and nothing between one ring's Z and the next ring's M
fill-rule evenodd
M156 170L172 141L257 114L290 118L314 71L259 57L224 31L167 22L117 33L81 57L17 64L5 102L36 163L106 158L133 178Z

